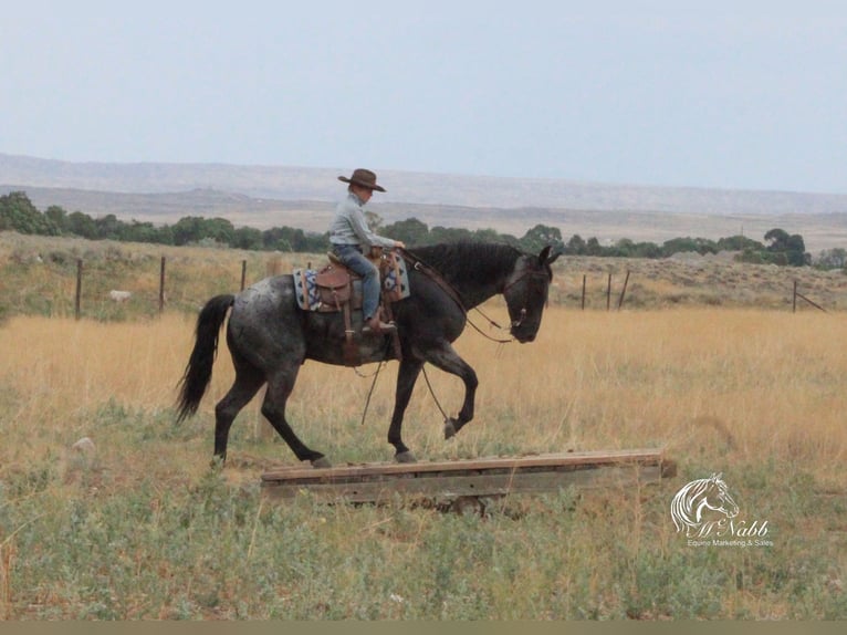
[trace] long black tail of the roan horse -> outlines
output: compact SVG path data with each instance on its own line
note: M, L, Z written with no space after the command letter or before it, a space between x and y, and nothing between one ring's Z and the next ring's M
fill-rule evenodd
M215 356L218 353L220 327L234 301L236 296L232 294L216 295L206 303L197 318L197 341L188 358L186 372L179 381L177 423L197 412L200 399L209 387Z

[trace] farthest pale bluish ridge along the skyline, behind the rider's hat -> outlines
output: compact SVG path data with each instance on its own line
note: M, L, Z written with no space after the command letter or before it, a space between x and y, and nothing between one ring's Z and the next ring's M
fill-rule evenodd
M334 200L336 177L349 171L223 164L69 163L0 154L0 183L7 185L125 194L215 189L260 199ZM380 200L394 202L692 214L847 212L847 195L378 171L388 189Z

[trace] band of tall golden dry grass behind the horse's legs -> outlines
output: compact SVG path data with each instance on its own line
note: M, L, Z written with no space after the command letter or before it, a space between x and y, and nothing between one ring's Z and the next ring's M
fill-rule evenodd
M192 330L181 315L138 323L10 320L0 327L0 399L8 408L0 462L61 456L91 434L93 417L107 404L142 413L139 425L170 425ZM468 330L457 348L479 374L475 419L445 441L441 415L421 377L406 416L406 441L428 459L661 447L671 458L715 470L734 461L791 462L844 487L844 341L841 314L554 306L533 344L498 345ZM357 373L306 363L290 402L292 426L335 462L389 460L385 436L396 366L387 364L376 377L359 425L376 366ZM461 383L428 368L435 396L454 414ZM210 389L187 424L207 429L207 440L156 447L169 469L207 465L213 406L231 381L221 340ZM287 448L265 434L260 399L261 393L237 420L231 452L293 462ZM108 448L109 440L102 440ZM113 446L107 454L132 472L149 468L150 450Z

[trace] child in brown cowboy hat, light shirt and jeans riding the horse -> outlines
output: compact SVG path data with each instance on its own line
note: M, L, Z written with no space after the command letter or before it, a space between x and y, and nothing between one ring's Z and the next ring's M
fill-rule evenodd
M406 247L399 240L377 236L368 229L365 221L364 205L376 191L385 188L376 183L376 174L369 169L358 168L347 178L339 176L338 180L349 184L347 198L335 208L335 218L330 227L330 242L333 252L351 271L362 275L364 299L362 314L365 318L363 333L383 333L394 331L394 323L385 323L379 315L379 270L365 258L370 247Z

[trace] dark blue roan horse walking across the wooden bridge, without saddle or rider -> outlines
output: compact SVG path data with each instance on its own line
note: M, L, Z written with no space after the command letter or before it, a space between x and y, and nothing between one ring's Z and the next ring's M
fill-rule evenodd
M394 414L388 443L395 459L412 462L415 456L402 443L402 417L415 382L429 362L464 383L464 403L457 417L445 423L450 438L473 418L478 379L452 343L464 330L468 310L496 294L505 298L510 332L521 342L532 342L553 279L551 248L527 254L492 243L460 242L421 247L404 252L411 295L391 304L400 344ZM215 408L215 458L226 460L232 421L263 385L268 385L262 415L271 423L301 461L330 467L326 457L309 448L285 419L285 403L306 360L344 365L344 321L339 313L303 311L295 299L292 275L266 278L237 295L209 300L197 319L197 339L179 385L178 420L194 415L211 381L220 329L229 313L227 344L236 369L232 387ZM230 311L231 309L231 311ZM362 312L354 312L356 344L363 363L397 358L390 336L358 335Z

